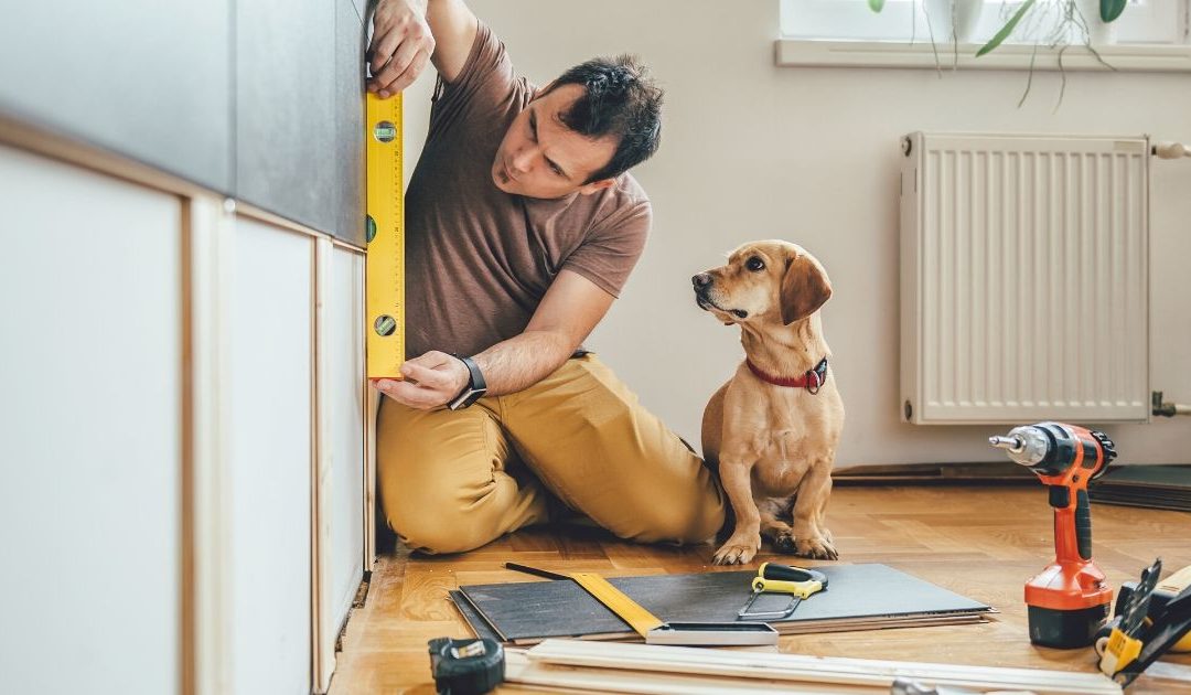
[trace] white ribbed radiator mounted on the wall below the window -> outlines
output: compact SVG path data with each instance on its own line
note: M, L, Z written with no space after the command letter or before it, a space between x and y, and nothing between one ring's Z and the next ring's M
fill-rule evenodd
M1148 421L1148 139L903 149L903 420Z

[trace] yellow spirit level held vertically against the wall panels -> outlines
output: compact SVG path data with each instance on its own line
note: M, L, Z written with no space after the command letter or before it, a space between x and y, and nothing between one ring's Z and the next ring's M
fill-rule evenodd
M367 95L364 238L369 379L400 379L405 361L405 191L401 95Z

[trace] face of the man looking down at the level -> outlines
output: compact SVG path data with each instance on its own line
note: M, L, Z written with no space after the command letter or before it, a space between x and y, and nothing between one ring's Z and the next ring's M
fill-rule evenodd
M582 93L579 85L563 85L517 114L492 162L497 188L530 198L561 198L575 191L591 194L615 182L586 181L612 160L616 138L592 139L559 120L559 113Z

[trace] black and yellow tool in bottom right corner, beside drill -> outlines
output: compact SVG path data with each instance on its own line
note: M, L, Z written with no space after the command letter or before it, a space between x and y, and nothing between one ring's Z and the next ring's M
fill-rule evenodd
M1128 591L1122 589L1108 639L1103 646L1097 639L1100 672L1122 685L1131 683L1164 653L1185 650L1185 643L1191 641L1191 573L1184 567L1160 584L1161 571L1159 558L1142 571L1140 582ZM1174 587L1181 589L1172 595Z

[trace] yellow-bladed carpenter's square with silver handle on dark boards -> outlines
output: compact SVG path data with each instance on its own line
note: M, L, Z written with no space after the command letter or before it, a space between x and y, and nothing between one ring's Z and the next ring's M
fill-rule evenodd
M575 582L609 610L617 614L621 620L629 623L637 634L646 639L646 644L676 646L778 644L778 631L766 622L666 622L594 572L561 575L517 563L505 563L505 567L547 579Z

